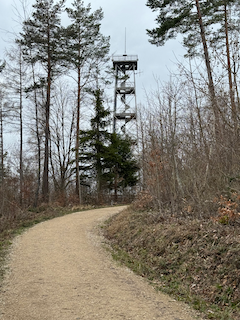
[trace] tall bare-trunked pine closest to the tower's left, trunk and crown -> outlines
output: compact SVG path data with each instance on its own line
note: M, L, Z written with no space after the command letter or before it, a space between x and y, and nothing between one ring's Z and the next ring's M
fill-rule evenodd
M82 90L93 80L96 66L99 61L107 59L109 52L109 37L104 37L100 32L102 9L91 12L91 6L86 7L82 0L74 0L72 8L66 9L72 23L66 28L67 55L66 60L71 69L77 74L77 105L76 105L76 194L81 202L80 180L78 169L79 158L79 133L80 133L80 106Z

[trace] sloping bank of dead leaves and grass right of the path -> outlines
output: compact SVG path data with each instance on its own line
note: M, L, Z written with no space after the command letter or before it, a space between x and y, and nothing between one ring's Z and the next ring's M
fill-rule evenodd
M206 319L240 319L240 228L131 209L104 226L113 257Z

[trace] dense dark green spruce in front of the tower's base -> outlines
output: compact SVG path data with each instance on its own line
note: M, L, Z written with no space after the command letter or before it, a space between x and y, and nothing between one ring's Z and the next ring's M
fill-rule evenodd
M95 186L97 203L104 201L106 192L114 192L115 202L119 192L137 184L139 167L132 153L132 141L109 133L110 112L104 109L103 92L97 89L95 115L91 119L91 129L80 131L79 169L81 183Z

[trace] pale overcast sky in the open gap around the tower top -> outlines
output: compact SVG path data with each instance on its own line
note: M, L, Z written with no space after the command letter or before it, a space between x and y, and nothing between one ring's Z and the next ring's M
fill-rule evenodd
M31 5L35 0L25 0ZM144 88L148 91L154 87L154 76L167 81L169 70L174 69L175 56L182 59L184 50L177 40L168 42L164 47L156 47L148 42L146 29L155 26L153 13L146 6L147 0L92 0L93 10L102 7L104 19L102 33L111 37L111 54L123 54L125 47L125 28L127 30L127 54L137 54L139 68L137 80L137 100L143 100ZM67 0L70 6L72 0ZM0 0L0 59L4 59L4 48L8 46L4 40L8 36L4 30L17 31L16 16L13 5L20 8L19 0Z

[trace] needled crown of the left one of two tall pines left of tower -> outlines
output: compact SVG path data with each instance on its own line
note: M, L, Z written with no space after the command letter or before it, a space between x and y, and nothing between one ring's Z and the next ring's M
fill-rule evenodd
M60 14L66 0L54 4L53 0L37 0L32 17L23 23L20 42L24 59L29 63L41 63L47 69L55 67L62 55ZM52 72L56 70L52 70Z

